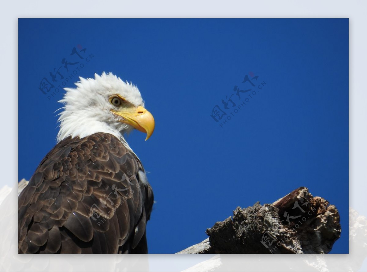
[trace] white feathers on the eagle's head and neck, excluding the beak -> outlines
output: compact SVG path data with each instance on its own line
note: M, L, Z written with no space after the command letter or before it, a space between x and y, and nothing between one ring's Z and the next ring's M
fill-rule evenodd
M112 73L102 73L94 75L95 78L82 78L76 82L77 88L64 88L66 93L59 102L65 104L59 117L60 131L57 141L66 137L80 138L93 133L110 133L123 143L126 141L123 134L130 132L133 127L119 121L110 109L112 105L109 98L113 95L120 95L134 106L144 106L140 91L135 85L122 81ZM127 144L126 144L127 145Z

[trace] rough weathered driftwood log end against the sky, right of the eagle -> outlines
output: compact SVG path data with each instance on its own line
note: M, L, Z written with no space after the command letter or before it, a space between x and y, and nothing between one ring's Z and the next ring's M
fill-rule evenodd
M328 253L341 227L334 205L300 187L272 204L237 207L206 233L178 253Z

